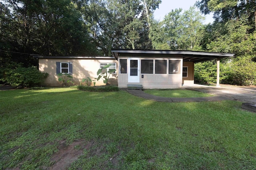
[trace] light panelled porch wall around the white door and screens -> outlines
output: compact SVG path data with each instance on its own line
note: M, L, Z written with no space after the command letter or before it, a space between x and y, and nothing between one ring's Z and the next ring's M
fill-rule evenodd
M182 87L182 56L181 55L163 55L163 54L158 54L158 55L150 55L150 56L142 56L142 55L136 55L136 56L119 56L118 61L120 59L127 59L128 58L139 58L140 59L140 64L142 59L150 59L150 60L155 60L155 59L164 59L167 60L167 72L166 74L155 74L155 71L153 74L143 74L144 78L142 78L142 73L139 73L140 76L140 82L134 83L134 82L128 82L128 66L127 66L127 74L120 74L118 73L118 87L120 88L127 88L128 84L141 84L144 89L152 89L152 88L181 88ZM168 74L169 70L169 64L168 60L180 60L180 71L178 74ZM128 65L128 63L127 63ZM154 67L155 68L155 67Z

